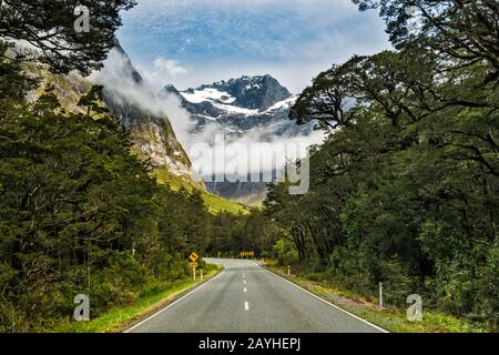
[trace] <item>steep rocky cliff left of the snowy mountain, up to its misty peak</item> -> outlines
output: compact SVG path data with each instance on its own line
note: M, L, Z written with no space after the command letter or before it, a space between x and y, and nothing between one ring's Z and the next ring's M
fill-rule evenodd
M105 88L105 104L131 130L134 151L161 172L156 174L160 182L205 189L193 174L191 161L176 140L169 118L157 106L156 95L144 85L119 43L95 80Z

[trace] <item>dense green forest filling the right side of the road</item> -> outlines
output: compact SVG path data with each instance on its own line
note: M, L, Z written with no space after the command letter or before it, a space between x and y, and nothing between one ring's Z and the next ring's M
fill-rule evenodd
M320 73L293 108L329 132L312 154L312 189L271 186L275 246L345 287L404 305L499 321L499 82L497 1L380 7L397 51L354 57ZM294 242L292 250L287 241ZM293 253L294 250L294 253Z

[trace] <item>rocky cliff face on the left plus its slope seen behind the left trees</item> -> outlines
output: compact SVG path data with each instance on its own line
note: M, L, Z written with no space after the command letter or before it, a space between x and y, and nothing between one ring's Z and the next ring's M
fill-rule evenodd
M94 83L104 85L104 104L130 129L134 141L133 152L150 162L159 181L204 190L204 183L192 172L191 161L176 140L169 118L159 112L157 108L146 106L147 102L154 102L155 95L143 87L140 73L119 43L110 52L108 61L112 62L112 68L106 62L102 72L89 78L75 73L54 75L45 70L32 70L42 79L41 88L53 85L61 104L70 111L80 110L78 101ZM122 82L106 82L110 78L118 78ZM34 100L39 93L30 93L31 99Z

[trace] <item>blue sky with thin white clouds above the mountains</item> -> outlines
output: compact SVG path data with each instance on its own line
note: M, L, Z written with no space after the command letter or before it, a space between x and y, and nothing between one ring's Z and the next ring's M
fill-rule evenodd
M390 48L377 13L349 0L139 0L123 23L156 89L269 73L297 93L333 63Z

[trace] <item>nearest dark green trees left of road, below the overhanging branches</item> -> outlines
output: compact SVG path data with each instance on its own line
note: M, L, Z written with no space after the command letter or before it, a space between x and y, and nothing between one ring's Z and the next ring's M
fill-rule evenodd
M75 291L102 306L100 272L153 225L154 181L128 132L110 115L68 114L47 91L0 118L0 298L11 305L0 326L11 331L52 322Z

